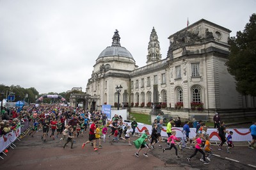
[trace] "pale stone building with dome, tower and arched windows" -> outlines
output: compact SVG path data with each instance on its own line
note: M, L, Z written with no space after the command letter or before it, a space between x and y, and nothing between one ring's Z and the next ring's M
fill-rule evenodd
M100 53L93 66L86 93L97 105L115 105L115 88L121 84L120 105L147 113L145 108L153 102L153 86L157 84L159 102L166 105L164 112L184 118L198 111L211 116L216 111L255 109L255 98L243 97L236 91L234 77L225 66L230 32L207 20L198 20L168 37L170 46L167 57L162 59L153 27L147 65L138 68L131 53L120 45L115 31L111 47Z

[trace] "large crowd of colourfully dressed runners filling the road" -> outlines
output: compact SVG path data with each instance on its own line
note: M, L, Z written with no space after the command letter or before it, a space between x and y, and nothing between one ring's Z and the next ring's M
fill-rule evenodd
M29 131L29 135L33 137L36 132L42 131L42 141L47 140L56 140L65 141L63 143L63 148L67 146L68 143L71 143L70 148L73 148L73 144L76 143L76 137L83 137L85 132L88 132L89 137L88 141L84 140L84 148L87 144L93 146L93 151L97 151L99 148L102 148L102 141L106 143L106 138L112 143L118 143L119 139L127 141L129 146L132 146L130 135L134 135L135 129L138 126L138 123L134 119L131 122L131 125L124 123L122 116L115 115L111 120L109 120L106 114L102 112L90 112L88 109L84 110L80 107L68 107L62 105L49 105L41 104L38 107L33 106L24 106L20 112L17 112L16 109L10 111L11 118L8 117L8 114L2 116L0 122L1 130L0 135L7 134L11 130L15 130L19 122L31 121L33 126ZM180 120L180 119L177 119ZM168 134L168 139L163 139L161 137L161 130L163 130L163 120L157 117L154 123L152 123L152 132L145 130L144 134L141 135L136 141L134 141L134 146L138 149L135 153L136 157L139 157L139 153L143 148L146 148L143 155L148 157L147 152L149 150L154 150L154 144L158 143L159 148L164 151L175 149L176 158L180 158L178 155L178 148L180 151L183 151L184 148L193 150L193 154L188 157L188 162L191 162L197 152L202 154L200 161L204 164L209 164L211 161L212 149L211 143L209 142L209 134L207 134L207 127L202 121L198 121L196 125L193 125L196 128L196 136L194 139L189 139L189 122L185 121L182 137L177 138L176 132L172 130L172 123L177 121L170 119L166 126L166 133ZM220 124L216 123L218 127L218 133L221 139L221 143L218 144L218 150L222 150L223 144L227 144L227 152L230 153L230 149L234 148L232 143L232 134L233 132L228 130L225 127L224 122ZM255 127L256 123L250 127L252 134L252 142L250 143L250 148L253 148L255 143ZM228 136L226 137L226 133ZM61 136L60 136L61 135ZM112 138L110 138L113 136ZM147 144L147 142L149 143ZM165 141L166 148L161 146L161 142Z

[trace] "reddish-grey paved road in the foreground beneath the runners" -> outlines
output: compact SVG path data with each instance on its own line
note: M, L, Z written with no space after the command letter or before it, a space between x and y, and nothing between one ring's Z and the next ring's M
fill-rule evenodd
M213 152L220 157L212 157L210 164L200 162L200 153L191 159L191 164L186 158L193 153L193 150L186 149L179 151L180 158L175 158L175 150L163 150L155 148L148 153L149 157L135 157L136 148L128 146L125 141L111 145L108 141L103 143L102 149L93 151L92 146L86 145L81 148L83 141L88 139L79 137L76 139L74 149L70 144L62 148L63 141L48 139L46 143L41 140L42 132L35 134L35 137L27 135L21 141L16 141L14 150L9 150L8 156L1 155L0 169L256 169L248 166L256 166L256 150L246 146L236 146L231 154L225 151L218 151L212 146ZM132 137L132 140L138 137ZM109 140L109 139L108 139ZM165 143L161 143L165 146ZM227 160L231 158L238 160Z

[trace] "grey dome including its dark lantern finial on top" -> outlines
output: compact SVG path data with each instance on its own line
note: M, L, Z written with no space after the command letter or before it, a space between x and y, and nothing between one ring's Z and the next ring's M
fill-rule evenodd
M102 58L102 57L106 57L106 56L122 56L125 58L133 59L132 54L129 52L129 50L125 49L125 47L121 47L120 36L119 36L117 30L115 31L115 35L113 36L112 39L113 39L113 42L112 42L111 47L107 47L106 49L104 49L100 53L98 59Z

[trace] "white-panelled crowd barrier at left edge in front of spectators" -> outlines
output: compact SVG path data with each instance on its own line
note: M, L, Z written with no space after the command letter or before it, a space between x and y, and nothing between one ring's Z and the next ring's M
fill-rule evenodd
M12 132L9 132L8 134L2 135L0 137L0 153L3 153L6 155L5 151L7 148L12 148L15 146L13 144L16 140L20 141L20 135L23 134L27 129L29 128L29 121L25 121L20 125L17 125L16 130L13 130ZM16 146L15 146L16 147ZM6 155L7 156L7 155ZM0 156L0 158L4 159Z

